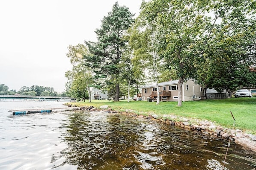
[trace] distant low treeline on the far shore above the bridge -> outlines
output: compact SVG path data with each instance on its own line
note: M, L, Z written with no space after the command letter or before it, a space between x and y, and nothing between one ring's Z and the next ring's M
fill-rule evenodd
M65 97L66 93L58 93L54 91L52 87L44 87L39 85L33 85L31 87L23 86L19 91L9 90L9 87L4 84L0 84L0 95L29 95L29 96L62 96Z

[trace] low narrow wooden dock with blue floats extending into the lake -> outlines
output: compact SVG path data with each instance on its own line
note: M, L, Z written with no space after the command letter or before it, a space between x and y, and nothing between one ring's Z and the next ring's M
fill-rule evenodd
M21 110L9 110L13 115L20 114L33 114L33 113L51 113L53 111L68 111L68 110L82 110L86 106L82 107L65 107L65 108L35 108L35 109L21 109Z

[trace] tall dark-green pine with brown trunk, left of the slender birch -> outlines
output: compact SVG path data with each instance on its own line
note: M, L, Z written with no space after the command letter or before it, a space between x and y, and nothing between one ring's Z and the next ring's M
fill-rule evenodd
M134 14L125 6L116 2L112 11L102 19L101 27L96 29L97 42L86 41L92 56L84 56L86 62L96 73L96 78L105 78L106 85L115 86L113 98L119 101L119 85L122 65L122 55L127 49L124 38L127 29L134 22Z

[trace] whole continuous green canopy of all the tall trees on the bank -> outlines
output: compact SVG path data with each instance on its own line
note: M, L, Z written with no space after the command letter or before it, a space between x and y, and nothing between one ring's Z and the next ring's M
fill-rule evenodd
M69 46L67 56L75 66L66 72L70 93L94 79L118 101L126 85L149 79L145 70L153 73L156 86L179 79L178 106L188 79L205 90L256 85L254 1L150 0L140 9L134 20L127 7L115 3L95 30L96 42Z

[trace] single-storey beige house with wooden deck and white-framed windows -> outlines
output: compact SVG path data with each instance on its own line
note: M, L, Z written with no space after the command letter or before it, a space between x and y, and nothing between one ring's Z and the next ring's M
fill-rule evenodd
M160 101L178 101L178 82L173 80L169 82L158 83ZM192 79L184 82L182 85L182 101L200 100L204 97L203 87L195 84ZM157 99L156 85L142 87L142 100Z

